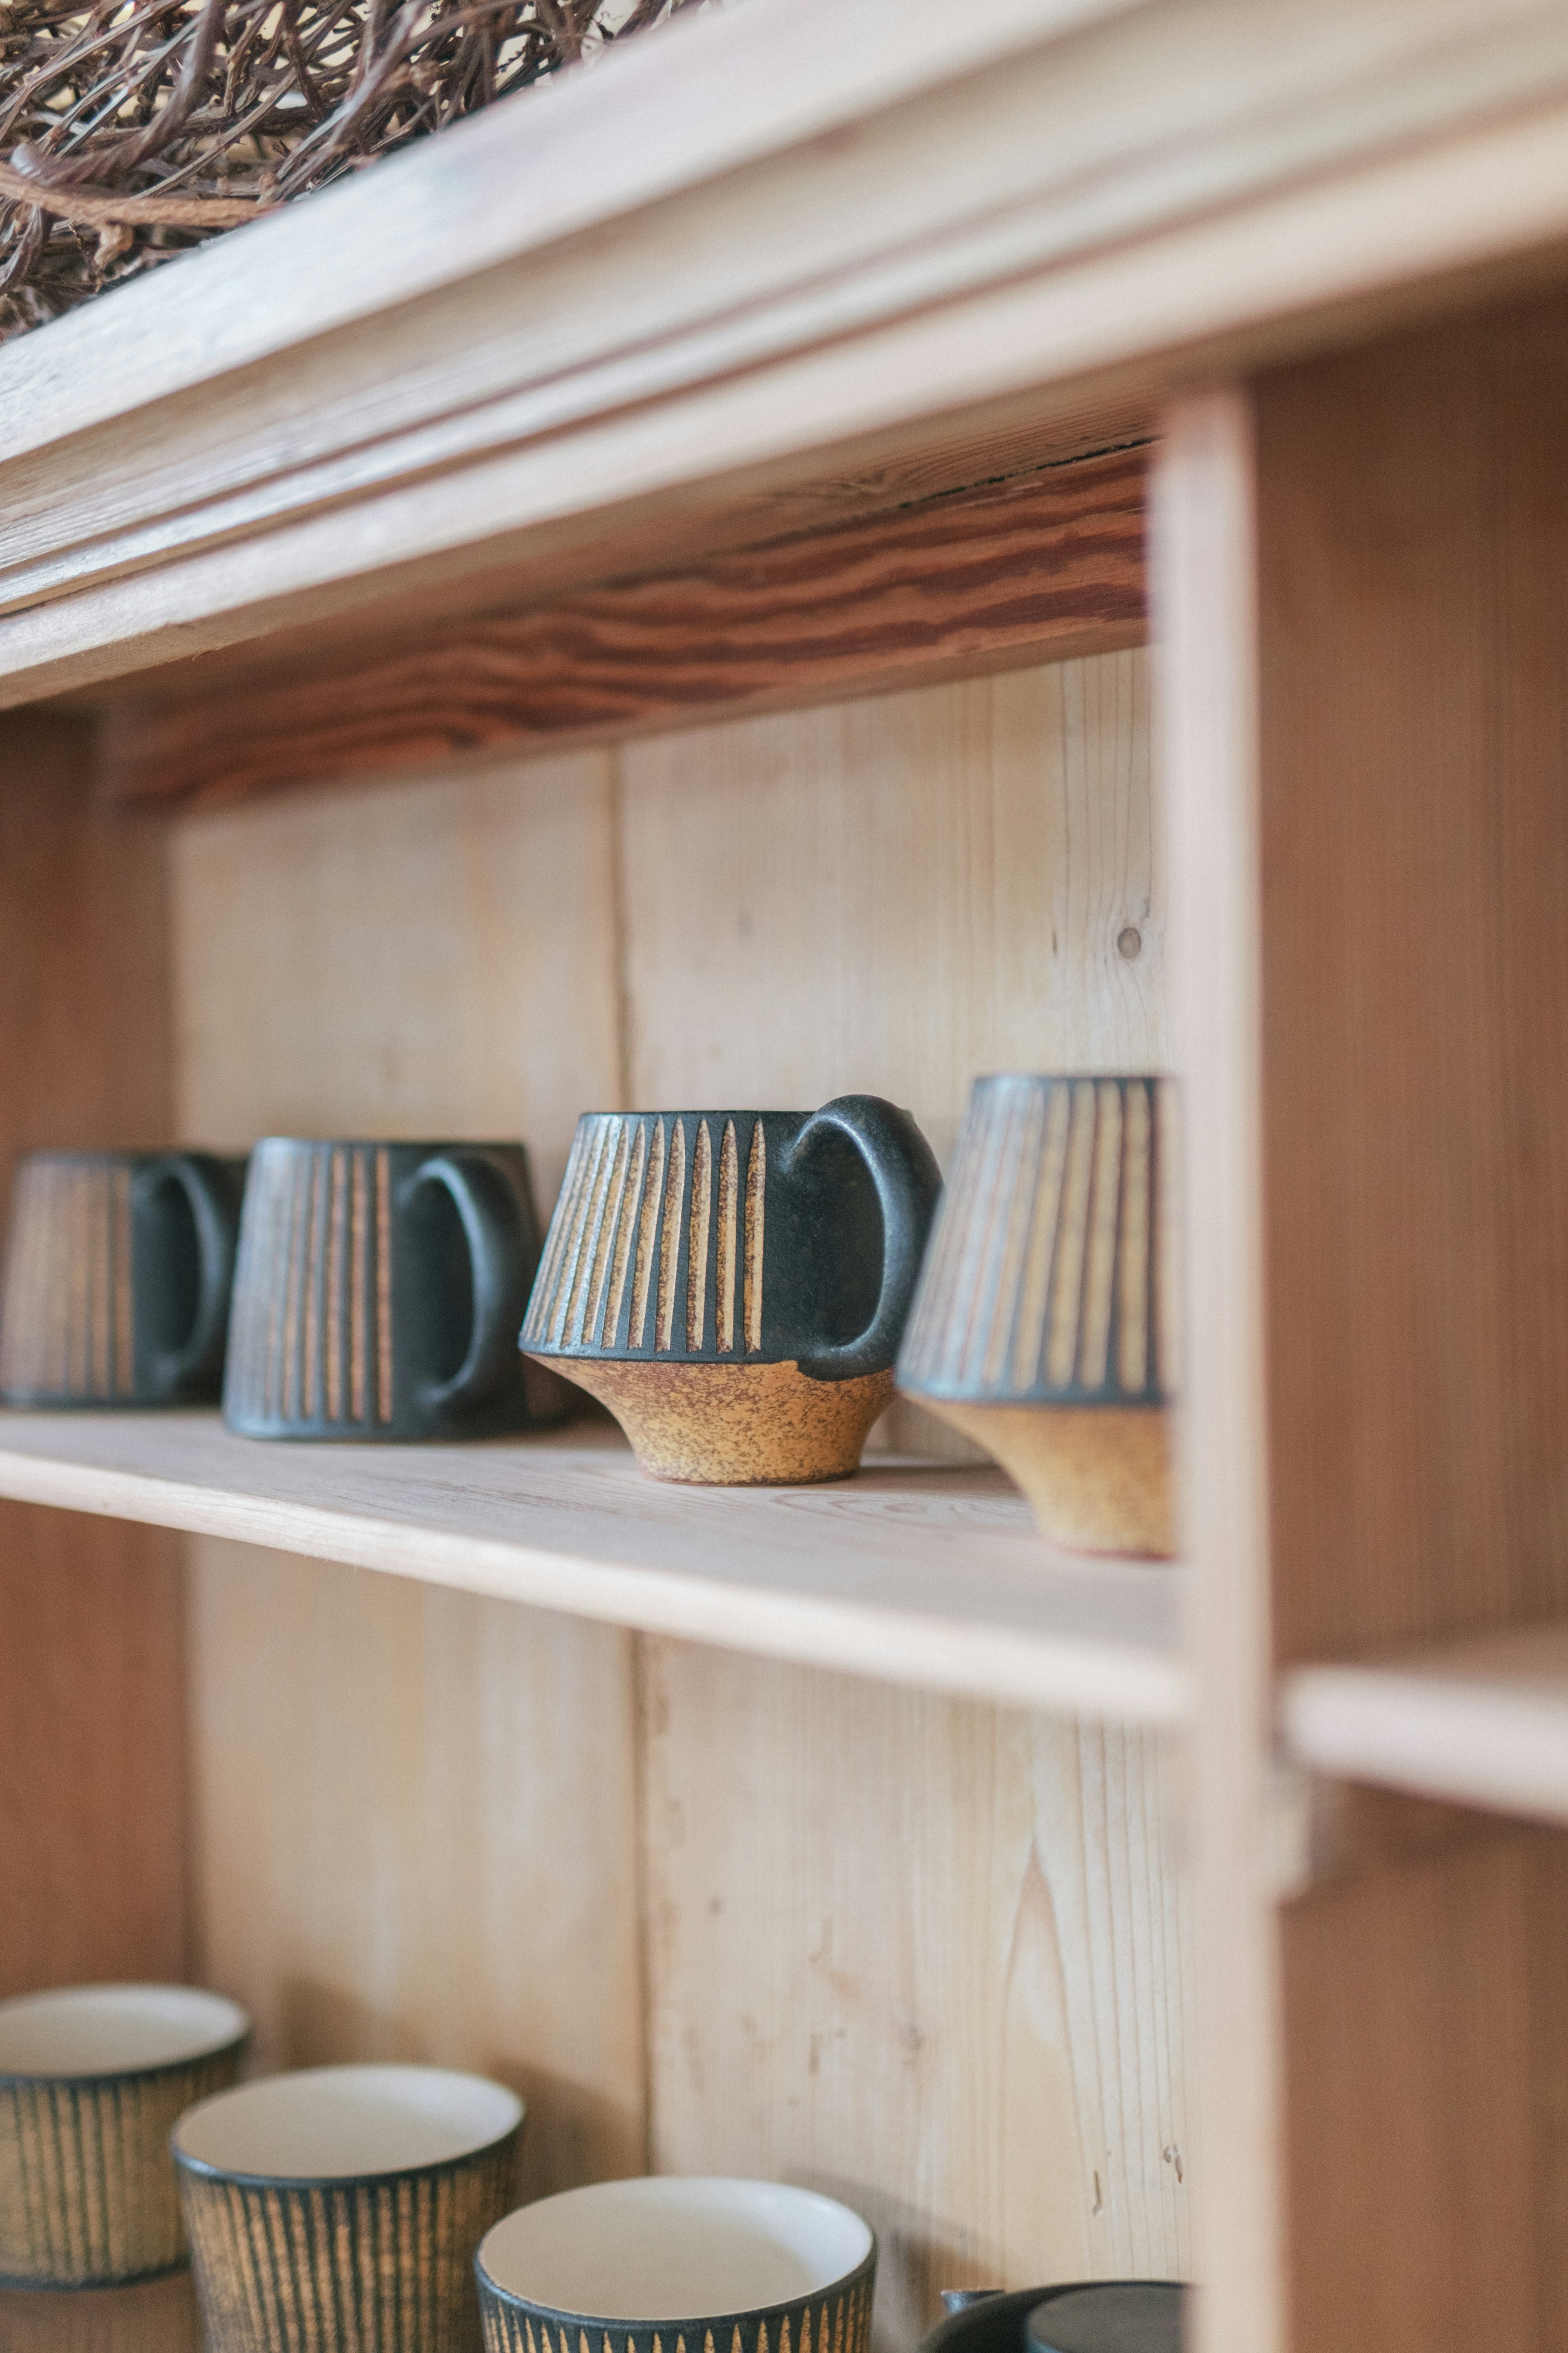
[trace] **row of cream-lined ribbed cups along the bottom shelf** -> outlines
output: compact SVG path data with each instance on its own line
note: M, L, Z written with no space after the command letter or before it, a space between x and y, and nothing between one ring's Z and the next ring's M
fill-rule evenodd
M235 2002L186 1986L0 2002L0 2285L120 2285L188 2249L209 2353L468 2353L480 2332L487 2353L870 2353L877 2238L839 2200L639 2177L517 2207L505 2085L430 2066L240 2085L247 2038ZM1175 2353L1152 2334L1175 2299L1034 2289L1025 2337ZM1018 2301L980 2320L990 2344ZM943 2353L980 2353L952 2332Z

